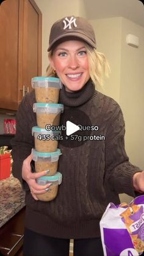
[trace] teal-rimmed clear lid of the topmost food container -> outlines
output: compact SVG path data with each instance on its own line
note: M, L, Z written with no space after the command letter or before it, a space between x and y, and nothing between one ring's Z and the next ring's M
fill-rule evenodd
M31 81L32 88L37 87L54 87L62 89L62 82L59 78L54 78L52 76L35 76Z

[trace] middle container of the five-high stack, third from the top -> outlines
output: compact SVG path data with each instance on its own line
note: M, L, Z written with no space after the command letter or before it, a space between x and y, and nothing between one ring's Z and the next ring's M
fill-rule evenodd
M46 131L38 126L32 127L32 135L35 137L35 149L38 152L48 153L57 150L61 131Z

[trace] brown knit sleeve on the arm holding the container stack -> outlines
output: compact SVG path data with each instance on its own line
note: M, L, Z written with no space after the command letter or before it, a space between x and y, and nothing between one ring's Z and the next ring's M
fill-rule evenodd
M26 181L21 176L21 169L24 159L31 154L34 147L34 137L32 136L32 126L36 125L36 117L33 112L34 92L27 93L23 98L16 113L16 134L11 140L12 144L12 174L20 180L23 189L29 189Z

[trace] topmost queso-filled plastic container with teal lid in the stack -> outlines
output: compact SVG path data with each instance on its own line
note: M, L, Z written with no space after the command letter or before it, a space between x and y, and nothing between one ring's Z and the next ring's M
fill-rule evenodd
M35 89L37 102L58 103L62 83L59 78L37 76L32 78L32 88Z

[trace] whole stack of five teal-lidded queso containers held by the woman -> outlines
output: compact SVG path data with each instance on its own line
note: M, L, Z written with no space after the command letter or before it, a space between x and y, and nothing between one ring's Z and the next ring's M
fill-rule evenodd
M46 126L59 126L63 104L58 104L59 90L62 84L59 78L35 77L32 78L32 88L35 89L33 110L37 116L37 126L32 127L35 137L35 148L32 148L32 159L35 161L35 172L46 170L47 175L37 178L39 185L51 183L49 190L37 194L39 200L50 201L57 196L59 185L62 183L62 174L57 172L59 156L57 148L60 130L46 129Z

